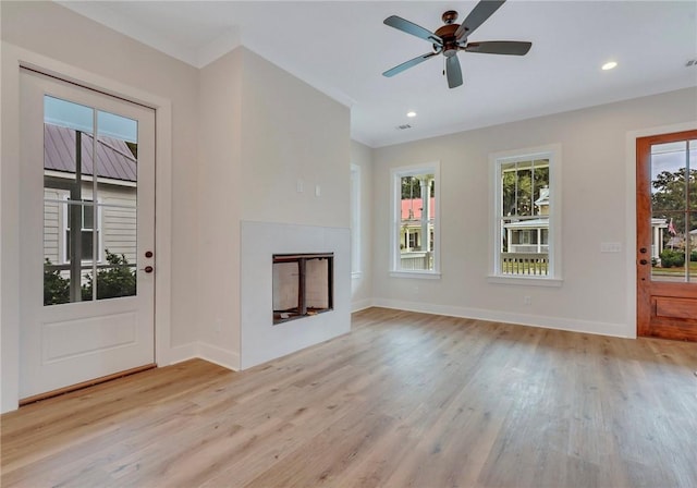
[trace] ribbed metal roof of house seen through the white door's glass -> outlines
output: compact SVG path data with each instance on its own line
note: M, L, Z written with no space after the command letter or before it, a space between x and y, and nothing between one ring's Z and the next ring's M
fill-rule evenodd
M82 133L82 173L93 175L93 135ZM97 136L97 176L137 181L137 160L124 141ZM44 124L44 169L75 173L75 131Z

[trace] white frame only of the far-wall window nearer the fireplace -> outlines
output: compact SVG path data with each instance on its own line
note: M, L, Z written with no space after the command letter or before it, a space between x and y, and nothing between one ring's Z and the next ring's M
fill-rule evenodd
M435 215L433 215L433 269L403 270L400 258L400 230L402 225L402 178L419 174L433 174ZM440 161L412 164L390 170L392 191L392 229L390 230L390 276L396 278L440 279ZM428 239L428 236L426 236Z

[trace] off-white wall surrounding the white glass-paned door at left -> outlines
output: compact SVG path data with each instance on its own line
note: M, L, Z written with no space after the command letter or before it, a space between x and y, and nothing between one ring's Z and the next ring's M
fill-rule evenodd
M198 70L53 2L0 2L2 53L2 410L19 378L19 63L99 86L158 109L158 286L171 307L156 319L166 347L196 339ZM172 197L174 195L174 197ZM167 235L166 235L167 234ZM171 234L171 239L170 239ZM171 263L171 266L168 264ZM159 306L166 303L160 301ZM170 303L170 300L167 300ZM170 320L171 317L171 320ZM168 361L168 358L164 358Z

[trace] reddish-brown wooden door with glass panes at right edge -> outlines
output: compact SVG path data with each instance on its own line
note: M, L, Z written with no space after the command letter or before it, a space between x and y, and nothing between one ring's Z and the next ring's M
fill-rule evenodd
M697 341L697 131L636 144L637 333Z

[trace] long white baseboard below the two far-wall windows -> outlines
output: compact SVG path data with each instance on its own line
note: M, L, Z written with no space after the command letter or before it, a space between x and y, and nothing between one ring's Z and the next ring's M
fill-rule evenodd
M571 332L585 332L616 338L635 338L632 328L627 327L627 325L625 324L596 322L590 320L576 320L564 317L514 314L511 312L455 307L449 305L435 305L429 303L404 302L400 300L388 298L375 298L372 301L372 305L377 307L394 308L407 312L419 312L424 314L474 318L479 320L489 320L518 326L541 327L543 329L567 330Z

